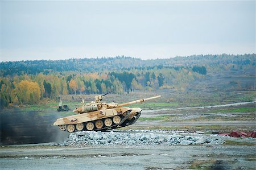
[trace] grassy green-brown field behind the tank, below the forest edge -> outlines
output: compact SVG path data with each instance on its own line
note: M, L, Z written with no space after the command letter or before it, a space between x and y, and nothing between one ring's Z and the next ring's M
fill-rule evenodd
M178 108L178 107L195 107L195 106L212 106L212 105L224 105L228 103L236 102L247 102L254 101L254 93L252 91L247 92L222 92L223 95L216 96L215 93L210 92L193 92L193 90L187 90L184 92L174 91L174 90L157 90L152 92L133 92L130 94L108 94L104 97L102 102L116 102L116 103L125 103L129 101L134 101L137 99L148 98L152 96L161 95L161 98L147 101L143 103L137 103L130 105L129 107L141 107L143 110L152 110L152 109L169 109L169 108ZM239 93L234 95L235 93ZM63 105L68 105L70 111L76 107L81 106L81 99L84 98L85 102L90 102L94 100L94 96L98 94L90 95L67 95L62 96ZM225 99L224 99L225 98ZM20 107L23 111L42 111L42 114L46 111L56 111L59 105L59 101L42 101L37 105L28 105ZM243 111L241 109L233 110L220 110L220 112L237 112ZM246 111L246 109L245 109ZM253 110L252 110L253 111ZM255 110L254 110L255 111ZM67 114L63 112L60 114Z

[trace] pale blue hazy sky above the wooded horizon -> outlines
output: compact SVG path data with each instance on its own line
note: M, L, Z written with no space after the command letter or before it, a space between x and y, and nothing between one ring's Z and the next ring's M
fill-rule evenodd
M255 53L255 1L1 1L0 61Z

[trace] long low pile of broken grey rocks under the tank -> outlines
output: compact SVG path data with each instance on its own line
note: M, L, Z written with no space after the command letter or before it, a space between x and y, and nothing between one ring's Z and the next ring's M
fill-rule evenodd
M224 140L216 137L188 136L177 134L155 134L144 132L101 132L101 131L81 131L69 134L64 143L60 146L107 146L107 145L189 145L189 144L222 144Z

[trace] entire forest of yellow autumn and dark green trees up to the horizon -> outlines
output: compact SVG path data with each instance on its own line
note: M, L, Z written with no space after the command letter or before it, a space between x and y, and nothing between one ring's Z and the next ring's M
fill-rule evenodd
M255 54L195 55L141 60L117 56L97 59L9 61L0 63L0 107L31 105L67 94L131 93L134 90L185 90L220 73L250 73ZM253 85L229 82L242 90Z

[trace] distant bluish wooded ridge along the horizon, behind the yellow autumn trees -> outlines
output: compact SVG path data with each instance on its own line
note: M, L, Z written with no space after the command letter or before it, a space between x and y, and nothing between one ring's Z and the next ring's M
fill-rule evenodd
M15 76L22 74L51 74L54 72L102 72L130 71L131 69L173 68L180 70L186 67L209 65L254 65L255 54L245 55L194 55L174 57L170 59L141 60L133 57L117 56L96 59L68 60L33 60L7 61L0 63L0 76Z

